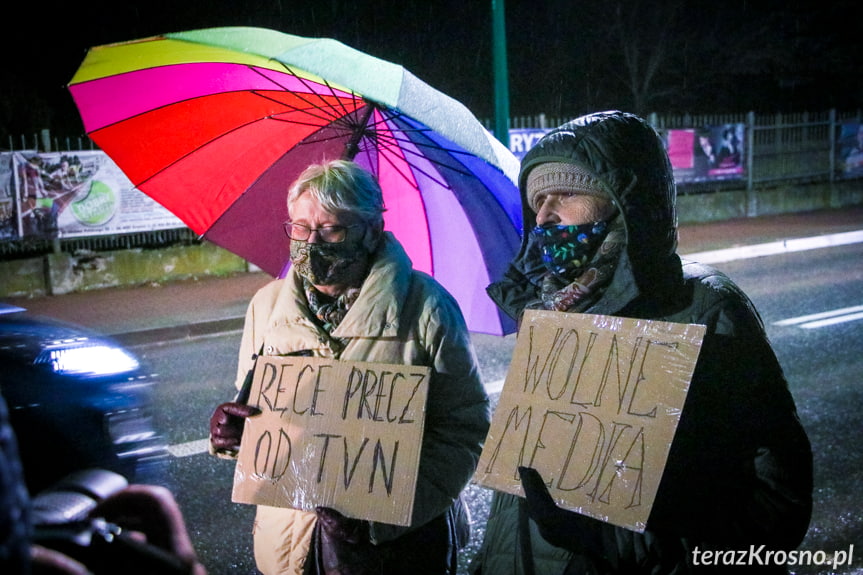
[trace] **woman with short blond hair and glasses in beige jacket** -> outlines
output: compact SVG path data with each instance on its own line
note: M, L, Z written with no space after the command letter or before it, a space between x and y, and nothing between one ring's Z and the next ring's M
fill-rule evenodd
M288 191L291 268L252 298L236 386L252 357L306 355L431 367L419 473L409 527L260 505L255 561L265 575L455 573L469 524L459 494L489 426L488 396L455 299L412 268L383 231L374 177L353 162L307 168ZM236 452L256 410L218 406L211 452Z

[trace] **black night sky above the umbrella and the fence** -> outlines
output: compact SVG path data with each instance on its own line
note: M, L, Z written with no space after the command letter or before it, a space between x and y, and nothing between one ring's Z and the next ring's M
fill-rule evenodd
M674 20L663 8L673 0L621 2L619 18L608 0L505 2L513 116L860 106L856 2L685 2ZM42 127L80 134L66 84L89 46L214 26L335 38L405 66L480 118L494 114L491 0L87 0L26 10L26 18L7 11L0 34L4 138ZM668 42L645 110L633 109L620 45L610 40L610 27L629 15L627 38Z

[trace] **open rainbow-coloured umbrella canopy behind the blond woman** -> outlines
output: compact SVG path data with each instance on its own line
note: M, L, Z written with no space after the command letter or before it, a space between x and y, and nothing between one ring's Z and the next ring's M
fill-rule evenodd
M468 328L514 330L485 287L518 249L518 160L401 66L331 39L212 28L91 48L69 89L139 190L274 276L288 262L290 183L353 159L381 184L386 229Z

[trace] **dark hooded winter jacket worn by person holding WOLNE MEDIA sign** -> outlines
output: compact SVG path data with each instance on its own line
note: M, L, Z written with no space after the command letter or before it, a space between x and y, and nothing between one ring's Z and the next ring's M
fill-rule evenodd
M590 170L625 224L627 248L611 283L586 313L702 324L707 335L645 532L602 523L601 548L590 557L573 555L519 518L524 500L498 493L472 571L701 572L692 565L696 546L796 547L811 512L810 445L752 303L721 272L682 263L676 254L675 187L661 139L640 118L620 112L579 118L547 134L522 162L527 230L536 218L524 202L527 174L549 161ZM489 294L517 318L537 299L531 280L539 268L525 240ZM525 549L533 555L533 570L524 568Z

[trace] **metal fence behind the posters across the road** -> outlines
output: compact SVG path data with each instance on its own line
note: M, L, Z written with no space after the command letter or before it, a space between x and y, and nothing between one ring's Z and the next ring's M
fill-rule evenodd
M798 114L704 114L661 115L650 114L647 121L657 130L690 129L703 126L744 124L746 142L746 177L715 182L685 183L678 185L680 194L721 193L725 190L747 189L757 193L759 188L774 187L782 183L834 181L849 177L841 173L837 141L843 124L861 122L861 111L802 112ZM510 118L510 129L548 129L571 118L545 114ZM482 120L489 130L492 120ZM19 147L20 144L20 147ZM38 134L9 137L9 148L40 151L73 151L94 149L86 136L52 137L47 130ZM854 177L861 177L856 175ZM167 245L196 243L200 240L189 229L74 238L62 240L20 240L0 242L0 258L32 257L52 251L76 253L133 248L156 248Z

